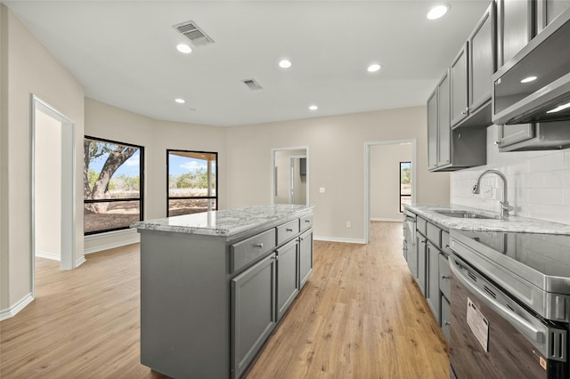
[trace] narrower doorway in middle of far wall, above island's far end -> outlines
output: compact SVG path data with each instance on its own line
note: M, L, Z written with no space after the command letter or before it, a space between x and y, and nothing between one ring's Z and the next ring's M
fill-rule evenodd
M272 149L272 204L309 204L308 147Z

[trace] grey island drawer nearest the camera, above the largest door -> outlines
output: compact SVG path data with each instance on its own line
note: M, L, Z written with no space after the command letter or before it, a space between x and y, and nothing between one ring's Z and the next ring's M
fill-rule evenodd
M270 229L230 246L231 272L253 262L275 247L275 230Z

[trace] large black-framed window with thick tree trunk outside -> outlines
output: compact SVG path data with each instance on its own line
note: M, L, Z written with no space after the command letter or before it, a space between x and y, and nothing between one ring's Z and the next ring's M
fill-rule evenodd
M144 148L85 136L83 158L85 235L141 221Z

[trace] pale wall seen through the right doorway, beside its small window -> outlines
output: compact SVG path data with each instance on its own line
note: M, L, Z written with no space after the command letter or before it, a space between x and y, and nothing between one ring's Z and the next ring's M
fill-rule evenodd
M371 146L371 220L402 221L400 162L411 162L411 144Z

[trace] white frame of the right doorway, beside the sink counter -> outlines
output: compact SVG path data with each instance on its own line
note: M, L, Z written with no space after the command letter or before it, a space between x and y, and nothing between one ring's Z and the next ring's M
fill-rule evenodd
M364 142L364 244L371 239L371 148L382 145L411 144L411 202L416 198L416 139Z

